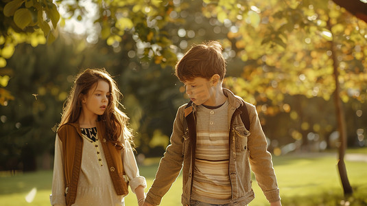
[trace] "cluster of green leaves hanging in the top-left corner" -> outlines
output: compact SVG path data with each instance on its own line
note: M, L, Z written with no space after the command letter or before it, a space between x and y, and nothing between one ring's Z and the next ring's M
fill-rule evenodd
M3 49L6 47L15 47L23 42L32 43L34 46L38 45L38 43L44 43L42 40L33 40L33 38L39 38L42 32L49 43L54 40L55 33L54 30L51 30L49 21L51 21L51 25L55 29L60 19L60 14L52 1L1 1L0 8L3 11L0 14L1 19L3 19L0 34L0 58L10 58L12 56L12 52L3 54ZM43 12L45 12L46 18L43 16ZM0 65L0 67L5 67L5 63Z

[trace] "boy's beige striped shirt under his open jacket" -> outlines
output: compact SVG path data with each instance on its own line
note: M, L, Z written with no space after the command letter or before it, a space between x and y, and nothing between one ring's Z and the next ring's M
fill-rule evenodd
M191 198L211 204L229 203L228 100L220 108L197 107L196 163Z

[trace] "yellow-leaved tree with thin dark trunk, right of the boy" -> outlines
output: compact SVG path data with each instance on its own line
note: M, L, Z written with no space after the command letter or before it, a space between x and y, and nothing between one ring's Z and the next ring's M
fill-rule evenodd
M244 79L229 81L242 95L251 95L251 102L269 99L281 107L285 93L326 100L335 93L341 142L338 166L344 194L351 194L340 98L366 100L366 23L332 1L204 2L204 14L233 23L228 38L235 39L232 46L241 59L252 63L244 68Z

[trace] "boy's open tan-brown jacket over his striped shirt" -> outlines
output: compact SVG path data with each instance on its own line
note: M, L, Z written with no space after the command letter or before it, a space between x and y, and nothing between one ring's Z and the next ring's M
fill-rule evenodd
M229 141L229 168L228 175L232 188L232 197L229 205L248 205L254 199L252 190L251 170L254 172L257 183L269 202L279 201L279 188L272 164L272 156L267 151L267 142L261 128L259 116L254 105L244 103L241 98L228 89L223 90L228 97L228 123L230 123ZM250 129L246 129L241 120L239 106L245 104L250 117ZM174 128L171 135L171 144L166 149L164 157L159 163L156 179L147 193L145 201L152 205L159 205L162 197L176 180L182 169L182 205L189 205L193 179L193 151L190 141L193 141L189 132L184 130L185 107L178 108ZM196 104L193 104L189 113L196 115ZM200 124L200 122L196 122ZM196 132L196 131L195 131ZM251 166L251 168L250 168Z

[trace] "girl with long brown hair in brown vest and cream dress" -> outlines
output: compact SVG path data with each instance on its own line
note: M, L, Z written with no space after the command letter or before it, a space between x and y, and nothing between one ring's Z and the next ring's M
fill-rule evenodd
M143 204L146 182L120 95L104 69L77 76L56 133L51 205L124 205L129 184Z

